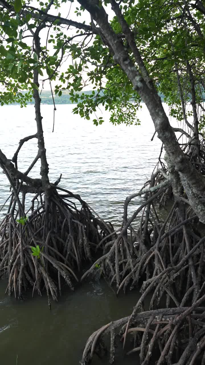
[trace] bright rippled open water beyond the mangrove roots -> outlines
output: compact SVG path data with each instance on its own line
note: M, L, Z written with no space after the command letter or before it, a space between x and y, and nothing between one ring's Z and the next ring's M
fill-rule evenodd
M57 105L55 129L53 108L42 106L43 130L50 169L50 180L62 173L60 186L81 195L102 217L119 224L127 195L138 191L150 178L158 159L161 142L150 141L154 126L143 105L138 117L140 126L113 126L103 111L105 122L94 126L72 113L72 105ZM100 114L99 114L100 115ZM19 140L36 132L34 106L1 107L0 148L12 158ZM37 153L37 140L24 144L18 168L26 171ZM39 162L31 177L39 177ZM9 196L6 176L0 172L0 206ZM142 202L136 199L132 210ZM4 212L6 212L5 206Z

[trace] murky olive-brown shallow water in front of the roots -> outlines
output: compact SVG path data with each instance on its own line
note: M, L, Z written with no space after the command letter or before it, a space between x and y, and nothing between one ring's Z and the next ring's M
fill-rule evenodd
M49 311L46 295L32 299L30 292L26 300L16 301L4 294L5 286L2 282L0 355L1 364L7 365L16 364L17 354L19 365L78 364L89 335L129 315L140 296L136 290L117 298L104 280L88 280L75 292L65 290ZM123 364L120 347L117 364ZM136 364L136 356L129 356L127 362ZM94 364L101 363L106 358L96 357Z

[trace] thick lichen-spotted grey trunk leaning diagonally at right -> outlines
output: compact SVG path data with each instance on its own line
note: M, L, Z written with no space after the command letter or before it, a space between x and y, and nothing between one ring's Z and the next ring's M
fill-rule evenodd
M205 179L184 155L179 143L176 141L173 129L171 128L169 119L163 109L160 97L158 96L156 89L153 87L152 80L148 77L142 58L140 57L139 51L131 37L131 31L121 14L119 4L117 4L115 0L111 0L112 10L115 12L119 23L123 28L125 38L135 55L140 71L129 58L127 49L125 49L122 40L117 37L117 34L112 30L104 8L99 7L91 0L78 0L78 2L83 5L86 10L88 10L93 19L96 21L100 29L99 33L103 35L110 50L114 53L113 58L127 74L134 89L139 93L140 97L146 104L154 123L155 130L158 133L158 137L163 142L170 164L174 166L175 171L179 173L183 188L189 198L189 203L197 213L200 221L205 223L205 207L199 200L199 196L205 197ZM198 123L196 119L194 128L194 133L197 138Z

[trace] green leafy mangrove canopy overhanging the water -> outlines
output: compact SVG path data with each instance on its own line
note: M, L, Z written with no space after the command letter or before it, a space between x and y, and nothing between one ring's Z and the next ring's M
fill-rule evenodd
M37 1L38 5L33 8L27 0L8 1L7 7L0 5L1 105L17 101L23 107L31 100L32 90L40 88L47 80L51 81L56 95L69 91L71 101L76 103L74 114L87 120L92 118L96 125L103 122L103 118L96 114L101 104L111 113L113 124L139 124L136 112L141 107L141 99L116 63L103 36L93 24L81 20L84 8L80 5L75 10L80 26L70 24L68 29L61 15L62 3L66 3L63 6L69 9L71 2L68 0L56 0L51 7L47 1ZM109 0L100 1L98 6L106 9L109 3ZM53 14L56 9L58 16L45 16L47 12ZM187 62L194 75L197 104L202 105L204 101L204 14L193 8L192 2L184 5L184 1L175 0L123 0L120 9L148 73L170 105L170 115L183 120L183 97L186 116L191 116ZM117 18L110 23L136 64ZM46 32L47 36L40 41L38 56L32 37L39 27L42 27L40 34ZM38 69L40 86L33 82L34 69ZM93 89L91 95L83 92L88 87ZM200 128L203 128L203 115L200 122Z

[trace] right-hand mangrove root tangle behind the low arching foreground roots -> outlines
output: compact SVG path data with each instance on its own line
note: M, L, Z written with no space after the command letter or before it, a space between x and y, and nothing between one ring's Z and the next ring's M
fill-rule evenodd
M193 210L182 201L172 202L166 219L162 221L155 210L164 195L170 199L170 181L166 170L158 170L150 180L150 188L142 189L125 200L121 230L112 232L111 241L104 245L103 255L84 273L81 280L96 273L100 266L103 276L110 285L115 283L117 294L142 284L143 293L136 309L143 305L147 294L152 292L150 309L158 307L167 297L166 306L184 306L200 295L204 282L204 241L197 231L198 218ZM145 194L148 199L127 219L129 202ZM142 211L138 230L135 218ZM116 238L115 238L115 235ZM104 243L104 239L97 248ZM184 287L183 279L188 278Z

